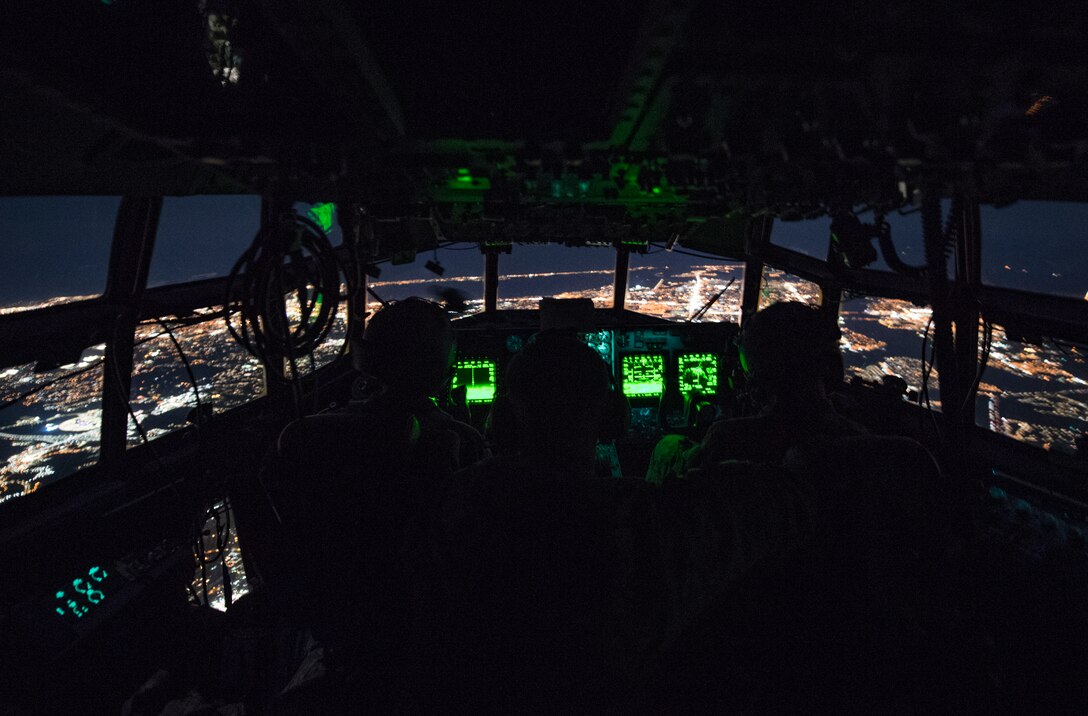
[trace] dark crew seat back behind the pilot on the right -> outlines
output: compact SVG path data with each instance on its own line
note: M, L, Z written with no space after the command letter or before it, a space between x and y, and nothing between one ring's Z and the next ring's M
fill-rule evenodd
M974 676L953 656L952 497L932 456L906 437L866 435L800 445L786 462L829 483L804 572L824 706L937 707L962 692Z

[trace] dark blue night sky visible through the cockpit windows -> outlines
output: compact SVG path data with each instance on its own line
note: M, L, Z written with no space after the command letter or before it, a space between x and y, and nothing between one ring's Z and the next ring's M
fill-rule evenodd
M118 197L0 198L0 305L101 293L119 205ZM149 284L225 275L252 240L259 215L258 197L169 197ZM1088 292L1088 203L1022 201L982 207L981 218L987 283L1075 298ZM892 214L889 222L903 258L920 262L919 214ZM823 258L828 224L827 219L779 222L772 240ZM422 268L428 258L423 254L412 267L390 267L382 280L434 277ZM444 249L440 259L447 276L482 273L482 259L472 248ZM504 274L611 264L609 249L559 246L515 247L500 259Z

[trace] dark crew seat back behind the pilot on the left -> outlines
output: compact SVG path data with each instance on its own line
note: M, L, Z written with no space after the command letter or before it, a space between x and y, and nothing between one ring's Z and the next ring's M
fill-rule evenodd
M410 413L311 416L284 429L269 471L274 598L362 692L396 678L410 618L406 524L425 486L448 477L425 442Z

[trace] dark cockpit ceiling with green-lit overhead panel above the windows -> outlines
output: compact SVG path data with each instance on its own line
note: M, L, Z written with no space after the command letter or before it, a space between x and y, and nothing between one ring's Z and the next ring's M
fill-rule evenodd
M3 45L2 193L784 218L923 178L1088 197L1080 2L53 4Z

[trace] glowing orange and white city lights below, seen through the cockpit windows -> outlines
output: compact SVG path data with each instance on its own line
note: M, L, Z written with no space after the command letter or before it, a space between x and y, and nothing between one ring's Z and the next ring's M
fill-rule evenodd
M534 293L534 282L556 285L579 280L590 288ZM374 282L391 298L425 295L436 286L479 285L477 275ZM533 309L542 295L591 298L598 307L611 305L611 271L558 271L503 276L507 285L522 287L499 299L502 309ZM507 283L519 282L519 283ZM551 282L551 283L548 283ZM732 282L732 283L730 283ZM669 273L657 268L632 268L627 307L633 311L684 321L722 295L703 321L738 321L741 312L743 267L706 263ZM510 293L510 292L508 292ZM58 297L18 310L44 308L84 297ZM819 288L784 272L768 269L761 305L776 300L815 304ZM469 298L467 313L482 310L482 300ZM11 309L0 309L11 312ZM848 300L840 313L843 354L850 374L879 381L899 375L917 390L922 383L922 340L929 309L890 298ZM221 318L180 325L174 333L189 358L201 400L222 411L242 405L264 391L259 362L230 337ZM320 366L336 355L344 335L344 320L336 321L333 340L313 356ZM133 409L148 437L154 439L186 424L196 402L188 374L169 336L157 324L137 330L134 351ZM143 343L139 343L143 342ZM76 363L37 373L34 365L0 370L0 395L14 399L49 381L48 387L18 400L0 416L0 502L35 492L65 474L94 465L98 458L102 391L102 346L87 349ZM310 357L298 361L301 373ZM937 375L930 375L935 387ZM985 380L979 385L978 422L997 432L1048 449L1072 452L1079 431L1088 429L1088 360L1074 347L1031 346L994 332ZM935 407L939 397L935 395ZM129 424L129 444L140 437Z

